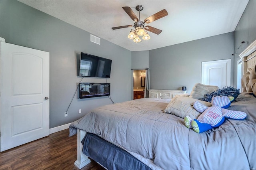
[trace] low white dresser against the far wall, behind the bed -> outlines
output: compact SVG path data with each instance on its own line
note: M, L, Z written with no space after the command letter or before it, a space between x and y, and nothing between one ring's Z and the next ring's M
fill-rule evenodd
M185 90L154 90L150 89L149 91L149 98L157 98L157 99L172 99L176 95L181 95L186 93Z

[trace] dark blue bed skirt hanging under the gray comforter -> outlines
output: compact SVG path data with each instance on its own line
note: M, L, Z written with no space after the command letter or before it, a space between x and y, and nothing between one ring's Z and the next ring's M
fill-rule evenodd
M151 170L134 156L96 134L86 133L82 140L83 153L108 170Z

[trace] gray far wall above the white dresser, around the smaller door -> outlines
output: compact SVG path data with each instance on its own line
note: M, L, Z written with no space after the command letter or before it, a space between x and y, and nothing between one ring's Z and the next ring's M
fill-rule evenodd
M233 51L234 32L150 50L150 89L181 90L186 86L190 93L201 82L201 62L220 59L231 59L233 85Z

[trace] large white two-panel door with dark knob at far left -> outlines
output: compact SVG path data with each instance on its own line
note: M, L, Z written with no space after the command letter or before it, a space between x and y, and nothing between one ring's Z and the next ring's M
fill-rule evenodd
M49 135L49 53L0 43L0 151Z

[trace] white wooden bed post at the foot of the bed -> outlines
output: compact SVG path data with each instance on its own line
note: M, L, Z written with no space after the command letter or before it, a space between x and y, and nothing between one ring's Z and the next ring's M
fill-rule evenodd
M91 162L91 160L83 152L83 145L81 140L84 138L86 132L80 129L77 129L77 160L75 161L75 166L79 169L83 168Z

